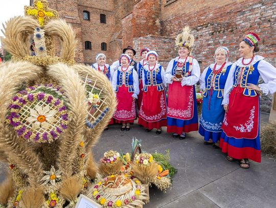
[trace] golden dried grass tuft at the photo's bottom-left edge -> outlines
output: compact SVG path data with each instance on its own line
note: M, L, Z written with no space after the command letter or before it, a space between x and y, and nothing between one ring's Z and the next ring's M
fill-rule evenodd
M7 205L9 198L14 194L12 177L9 175L4 182L0 184L0 204Z

